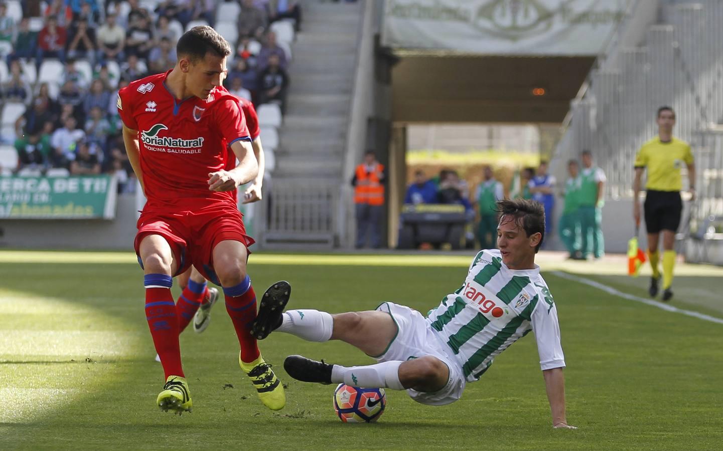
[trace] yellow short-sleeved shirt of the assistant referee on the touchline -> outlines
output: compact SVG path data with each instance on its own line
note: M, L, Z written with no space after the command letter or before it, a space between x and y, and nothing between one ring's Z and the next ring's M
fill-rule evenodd
M654 191L682 190L680 168L684 164L693 164L693 153L690 152L690 144L675 137L669 142L662 142L656 136L643 144L635 158L636 169L648 169L646 190Z

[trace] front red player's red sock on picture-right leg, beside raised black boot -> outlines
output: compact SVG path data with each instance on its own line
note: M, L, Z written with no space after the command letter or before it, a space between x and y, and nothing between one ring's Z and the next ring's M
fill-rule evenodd
M236 286L223 289L226 297L226 311L234 323L236 336L241 345L241 361L253 362L259 358L259 347L249 329L256 319L256 294L251 286L251 279L246 279Z

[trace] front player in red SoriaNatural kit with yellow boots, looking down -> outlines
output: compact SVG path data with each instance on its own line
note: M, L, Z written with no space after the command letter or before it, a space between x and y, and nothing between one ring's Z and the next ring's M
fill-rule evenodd
M146 319L166 373L156 403L176 413L192 406L171 284L193 265L223 287L241 369L262 402L278 410L286 403L283 385L249 333L256 296L246 263L254 240L234 192L254 180L258 165L239 101L221 86L231 48L202 26L181 36L176 54L174 69L132 82L118 95L126 151L147 198L134 248L145 273ZM226 170L228 147L239 159L233 170Z

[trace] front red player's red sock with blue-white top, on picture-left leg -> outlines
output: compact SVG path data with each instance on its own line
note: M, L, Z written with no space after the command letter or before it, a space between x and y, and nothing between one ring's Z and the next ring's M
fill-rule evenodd
M170 276L168 279L171 279ZM146 285L149 285L148 276L146 276ZM153 336L155 351L161 357L166 379L168 376L184 377L179 346L179 324L170 288L153 284L153 287L145 289L145 319L148 321L150 335Z

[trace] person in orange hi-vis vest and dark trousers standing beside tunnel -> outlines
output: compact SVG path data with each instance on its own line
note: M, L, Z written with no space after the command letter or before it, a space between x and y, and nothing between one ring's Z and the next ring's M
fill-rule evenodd
M372 248L382 247L382 211L384 209L384 165L377 162L374 152L364 154L364 162L356 167L351 185L354 186L356 207L356 248L364 248L367 232Z

